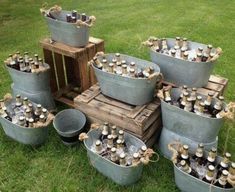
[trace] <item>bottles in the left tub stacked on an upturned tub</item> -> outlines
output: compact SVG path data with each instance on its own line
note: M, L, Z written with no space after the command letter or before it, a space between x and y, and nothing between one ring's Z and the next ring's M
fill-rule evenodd
M24 52L24 55L21 55L19 51L15 54L10 54L5 63L11 68L27 73L42 71L46 68L38 54L30 57L28 52Z

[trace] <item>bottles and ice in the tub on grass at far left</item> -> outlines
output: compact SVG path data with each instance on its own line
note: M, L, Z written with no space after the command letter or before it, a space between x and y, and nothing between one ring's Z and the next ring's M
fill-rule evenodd
M34 106L27 97L21 98L17 95L11 106L6 107L4 101L1 101L0 115L13 124L31 128L37 122L45 123L48 111L40 104Z

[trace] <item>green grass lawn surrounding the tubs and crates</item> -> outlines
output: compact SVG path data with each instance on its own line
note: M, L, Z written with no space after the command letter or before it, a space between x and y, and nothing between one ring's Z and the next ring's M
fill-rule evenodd
M42 54L39 40L48 36L40 16L39 0L1 0L0 60L9 53L30 50ZM226 100L235 100L235 2L170 0L50 0L64 9L77 9L97 17L91 35L105 39L107 52L121 52L150 60L140 44L149 36L183 36L190 40L220 46L224 54L214 73L229 78ZM10 92L11 79L0 65L0 96ZM223 127L219 151L228 150L235 160L235 125ZM229 129L230 128L230 129ZM230 130L230 131L228 131ZM227 145L225 145L228 137ZM161 157L144 168L134 186L120 187L91 167L83 145L62 145L53 127L48 142L31 148L14 142L0 131L0 191L178 191L171 162Z

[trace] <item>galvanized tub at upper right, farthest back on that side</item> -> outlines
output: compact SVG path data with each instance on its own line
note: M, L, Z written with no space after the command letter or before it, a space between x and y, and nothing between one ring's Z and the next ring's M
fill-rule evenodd
M168 47L174 47L175 40L167 38ZM205 44L188 41L189 49L202 47L206 49ZM212 49L214 51L214 48ZM204 87L207 85L212 73L214 62L194 62L174 58L155 52L150 48L152 62L159 65L164 80L174 83L177 86L187 85L189 87Z

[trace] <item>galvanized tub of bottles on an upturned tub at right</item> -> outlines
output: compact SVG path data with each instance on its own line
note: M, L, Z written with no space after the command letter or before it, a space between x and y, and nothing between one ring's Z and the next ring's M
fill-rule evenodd
M177 100L180 97L180 92L179 88L173 88L171 91L172 98ZM205 98L203 95L202 97ZM213 98L212 104L216 100L216 98ZM163 100L161 100L161 111L162 123L165 128L196 142L214 142L223 126L222 118L199 116L170 105Z

